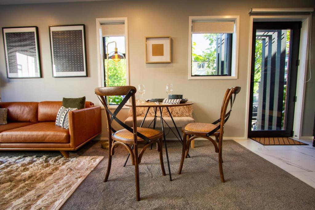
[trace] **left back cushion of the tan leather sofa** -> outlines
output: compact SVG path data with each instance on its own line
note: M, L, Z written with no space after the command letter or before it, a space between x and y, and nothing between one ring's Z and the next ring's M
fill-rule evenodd
M1 102L0 107L8 109L9 122L38 122L38 102Z

